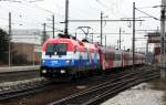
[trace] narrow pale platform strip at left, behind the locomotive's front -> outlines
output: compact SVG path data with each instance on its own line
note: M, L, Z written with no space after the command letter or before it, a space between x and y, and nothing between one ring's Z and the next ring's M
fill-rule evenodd
M21 71L34 71L34 70L39 70L39 69L40 69L40 65L6 66L6 67L0 67L0 73L21 72Z

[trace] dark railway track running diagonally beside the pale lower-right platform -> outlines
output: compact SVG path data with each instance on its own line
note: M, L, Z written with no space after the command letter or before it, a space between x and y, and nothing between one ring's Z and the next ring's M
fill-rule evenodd
M144 71L141 73L133 72L124 76L116 77L97 86L91 87L83 92L54 101L49 105L94 105L107 96L113 96L131 86L142 82L158 77L158 72Z

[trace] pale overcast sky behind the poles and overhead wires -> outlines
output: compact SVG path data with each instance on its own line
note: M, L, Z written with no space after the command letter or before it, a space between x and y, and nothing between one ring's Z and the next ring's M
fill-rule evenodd
M9 2L10 1L10 2ZM55 28L64 30L64 2L65 0L37 0L38 2L29 2L35 0L4 0L0 2L0 27L8 29L8 12L12 13L12 29L40 29L42 23L51 27L51 17L55 14ZM12 2L12 1L21 1ZM121 19L133 17L133 2L136 8L159 19L159 8L151 8L160 6L160 0L69 0L70 1L70 19L100 19L100 13L103 11L106 19ZM147 8L145 8L147 7ZM136 18L147 17L136 11ZM159 27L159 21L152 18L142 18L144 22L136 22L136 30L154 30ZM93 32L100 33L100 22L97 23L73 23L69 24L69 32L74 33L77 27L91 27ZM104 22L103 33L118 33L120 27L123 32L131 34L122 34L122 48L131 48L132 45L132 22ZM51 30L46 28L46 30ZM82 32L76 30L77 33ZM142 34L141 34L142 33ZM100 34L95 34L95 41ZM104 34L105 35L105 34ZM136 32L137 38L146 35L145 32ZM83 34L79 34L83 38ZM117 45L118 34L106 34L107 44ZM104 41L104 40L103 40ZM137 41L137 48L145 48L145 41Z

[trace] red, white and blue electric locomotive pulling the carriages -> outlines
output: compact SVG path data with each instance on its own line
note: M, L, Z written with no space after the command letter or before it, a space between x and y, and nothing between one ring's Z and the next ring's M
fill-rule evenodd
M65 38L49 39L43 44L42 76L76 76L91 70L100 70L100 54L95 44Z

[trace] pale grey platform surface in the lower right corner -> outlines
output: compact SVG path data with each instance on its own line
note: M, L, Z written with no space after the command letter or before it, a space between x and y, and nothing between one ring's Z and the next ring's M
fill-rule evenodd
M142 83L101 105L166 105L166 80L156 78Z

